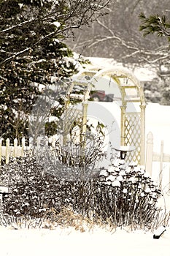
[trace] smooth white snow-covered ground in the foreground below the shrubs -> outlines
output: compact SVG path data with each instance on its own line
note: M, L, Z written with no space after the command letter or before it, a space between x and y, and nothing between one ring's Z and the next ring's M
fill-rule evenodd
M170 230L168 227L161 238L153 239L150 232L131 232L120 228L112 232L96 228L80 233L59 227L55 230L9 230L1 227L0 252L2 256L169 256Z

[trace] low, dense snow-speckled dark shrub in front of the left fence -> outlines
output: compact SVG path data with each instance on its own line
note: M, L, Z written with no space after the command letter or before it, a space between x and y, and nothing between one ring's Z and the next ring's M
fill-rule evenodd
M72 200L70 184L45 172L34 158L26 157L1 166L0 180L9 187L3 204L7 214L42 217L52 208L59 212Z

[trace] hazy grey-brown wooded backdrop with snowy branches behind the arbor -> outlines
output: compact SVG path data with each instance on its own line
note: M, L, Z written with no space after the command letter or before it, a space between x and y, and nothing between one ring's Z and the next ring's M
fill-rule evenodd
M89 28L76 31L74 40L67 40L67 45L84 56L112 58L130 67L149 64L156 70L158 79L145 84L144 90L150 91L149 97L146 94L147 100L169 105L169 1L117 0L105 9L108 15L98 18ZM150 23L143 25L142 13ZM157 33L156 37L156 29L152 30L151 26L157 25L157 29L165 31L163 16L166 17L166 33ZM142 26L151 29L147 30L147 37L140 31ZM159 97L152 97L155 93Z

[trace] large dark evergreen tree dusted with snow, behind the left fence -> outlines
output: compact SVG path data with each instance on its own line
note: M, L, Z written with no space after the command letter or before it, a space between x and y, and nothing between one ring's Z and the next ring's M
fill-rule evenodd
M0 137L28 134L28 114L40 86L75 72L66 61L72 51L62 39L95 20L107 2L0 0Z

